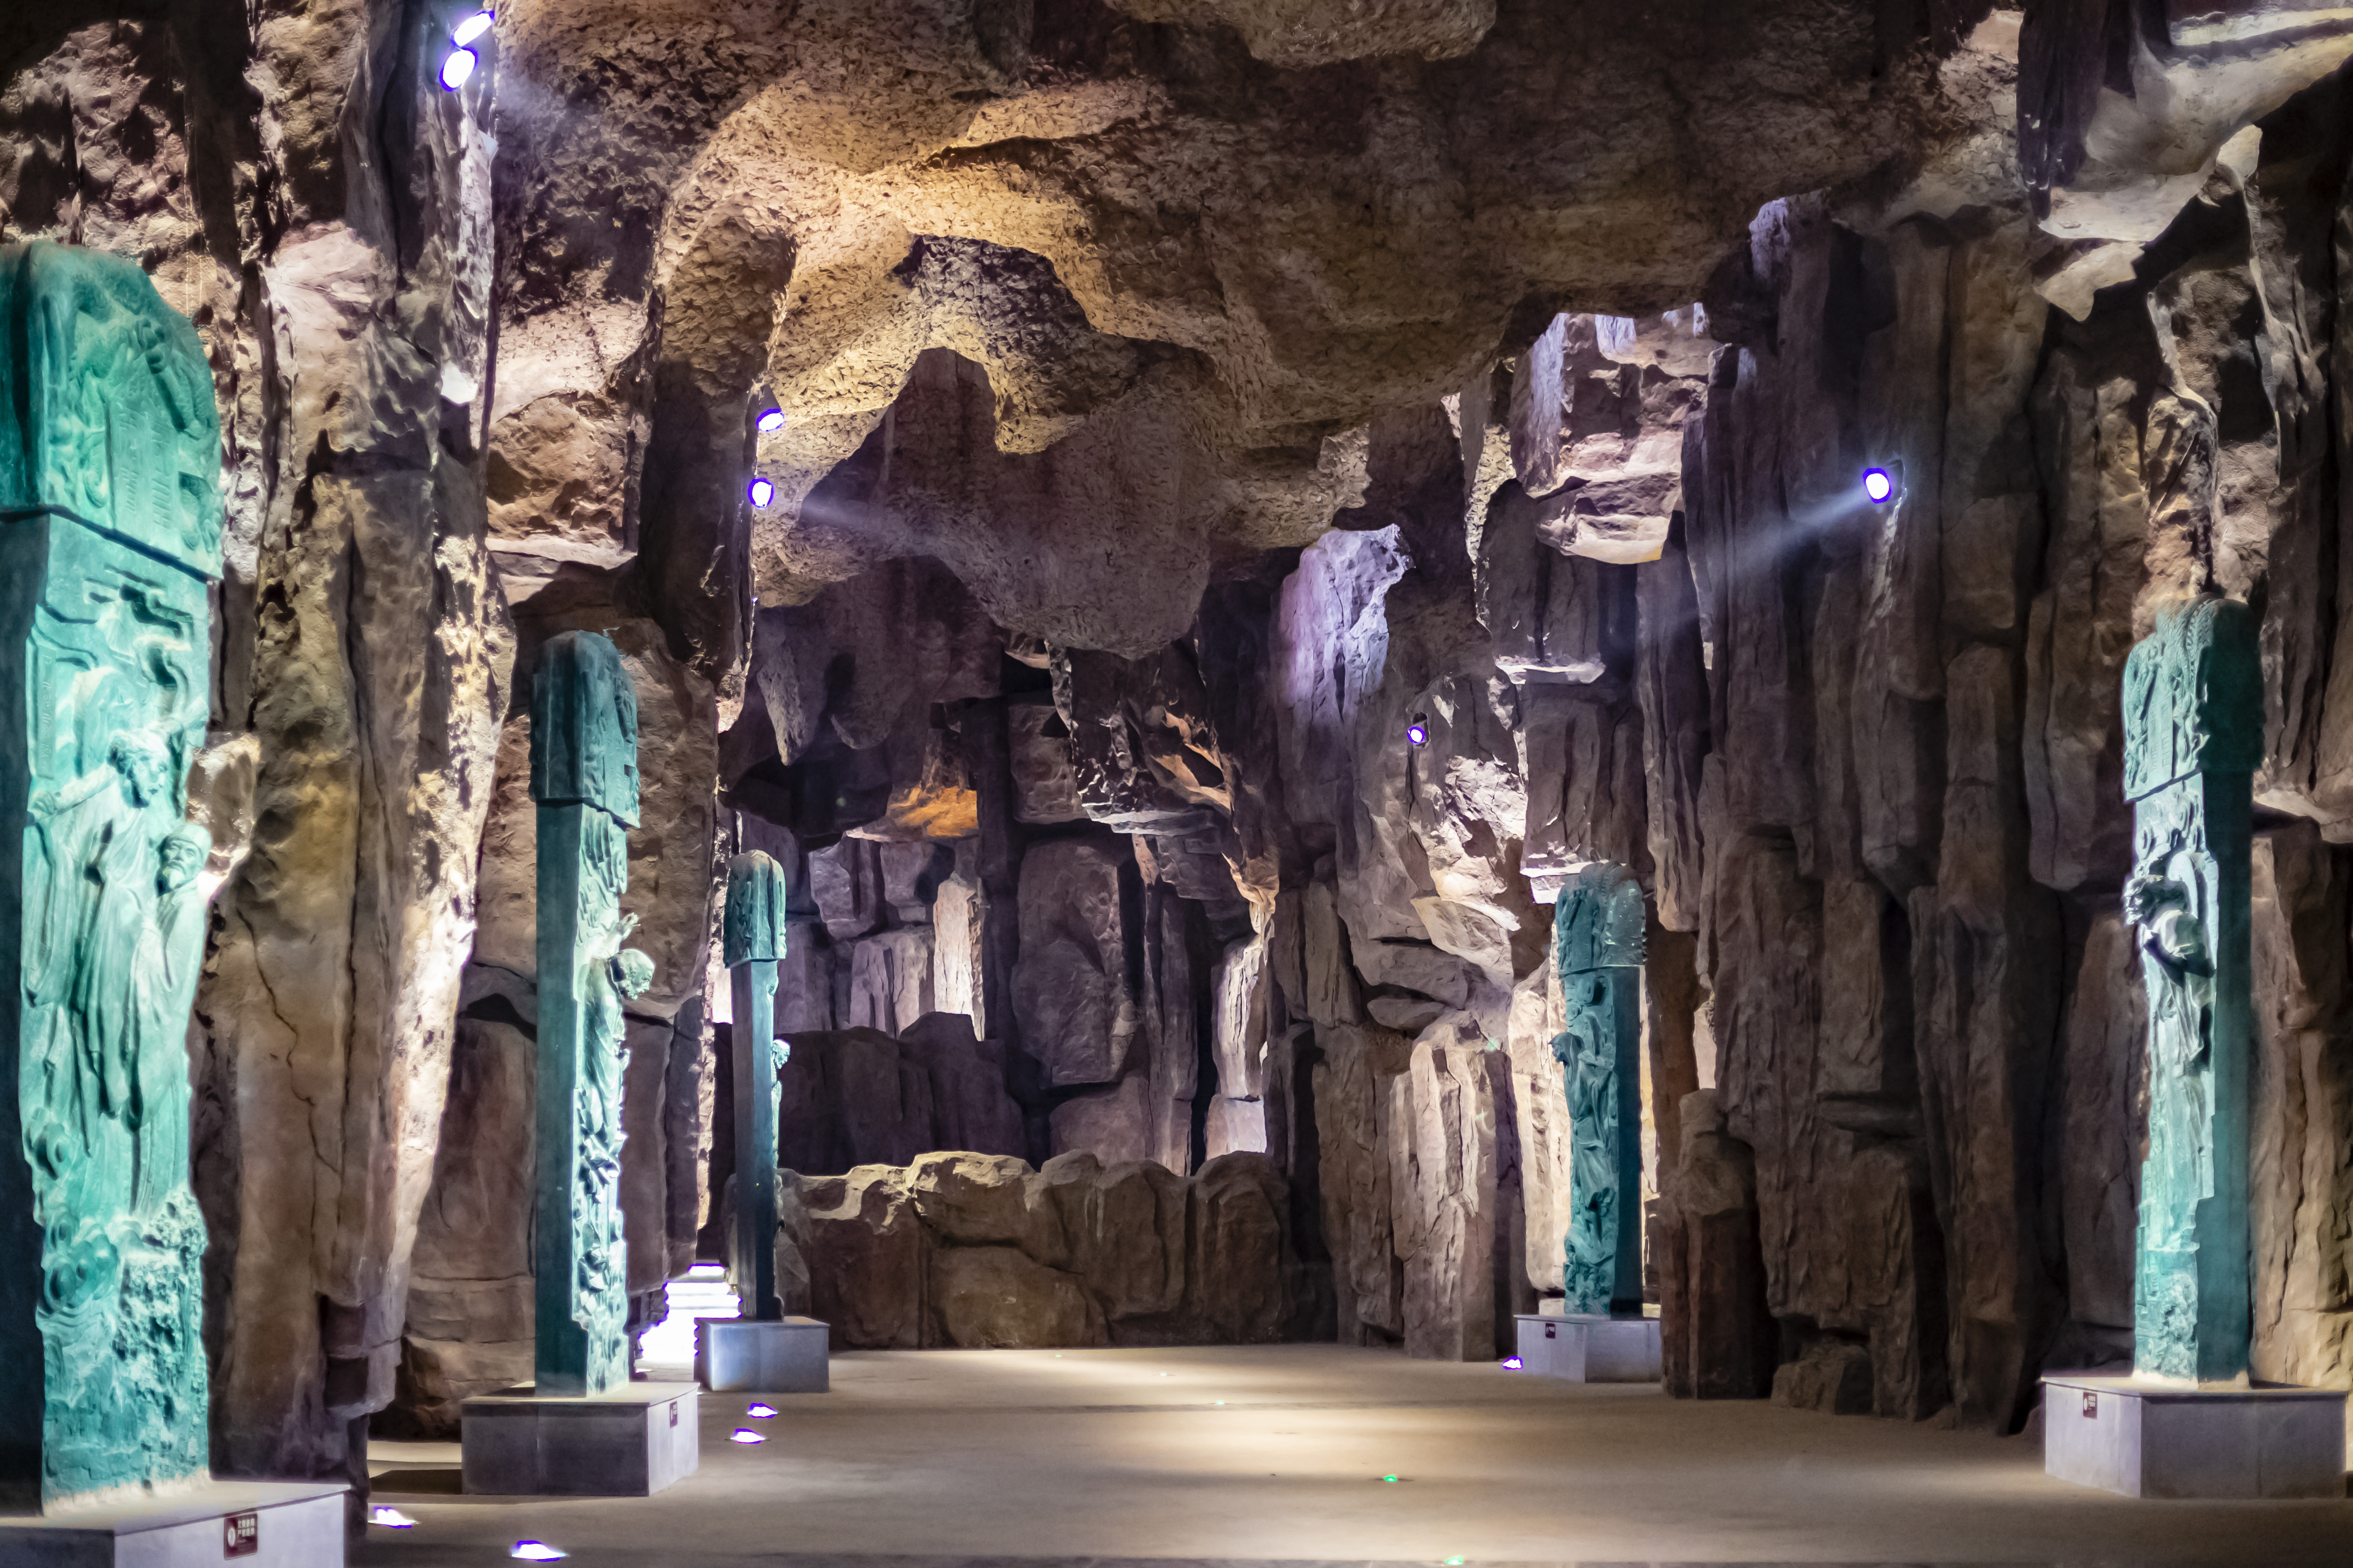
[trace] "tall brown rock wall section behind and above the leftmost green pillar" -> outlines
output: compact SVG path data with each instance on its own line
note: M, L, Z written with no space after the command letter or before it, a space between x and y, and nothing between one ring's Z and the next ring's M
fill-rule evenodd
M492 141L398 5L7 28L9 237L136 254L212 348L216 724L254 858L191 1037L214 1462L365 1476L433 1168L513 637L485 552Z

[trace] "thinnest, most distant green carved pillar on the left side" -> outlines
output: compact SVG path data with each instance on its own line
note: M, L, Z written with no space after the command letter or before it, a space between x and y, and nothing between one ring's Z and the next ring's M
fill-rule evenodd
M784 957L784 867L758 849L727 863L720 922L734 1004L736 1215L741 1314L784 1319L776 1300L776 959Z

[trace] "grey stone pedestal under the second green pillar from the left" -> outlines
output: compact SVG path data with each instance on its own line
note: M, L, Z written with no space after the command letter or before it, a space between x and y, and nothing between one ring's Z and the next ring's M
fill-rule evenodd
M459 1439L466 1490L494 1497L652 1497L701 1462L692 1382L480 1394L459 1406Z

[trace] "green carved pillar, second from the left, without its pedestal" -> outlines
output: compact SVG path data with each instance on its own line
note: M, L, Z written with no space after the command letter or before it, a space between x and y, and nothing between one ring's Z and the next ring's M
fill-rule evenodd
M621 1248L621 1001L654 964L621 947L638 825L638 693L619 649L560 632L532 682L539 802L539 1211L534 1382L602 1394L628 1380Z

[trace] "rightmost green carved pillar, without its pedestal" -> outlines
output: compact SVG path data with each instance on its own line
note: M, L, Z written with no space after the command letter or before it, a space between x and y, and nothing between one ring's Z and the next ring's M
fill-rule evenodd
M2249 835L2264 759L2254 611L2200 599L2125 661L2125 797L2148 987L2134 1371L2247 1375Z

